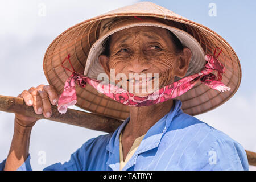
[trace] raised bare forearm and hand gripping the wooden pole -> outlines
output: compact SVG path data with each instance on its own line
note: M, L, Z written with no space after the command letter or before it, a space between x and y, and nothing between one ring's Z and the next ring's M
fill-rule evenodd
M46 118L51 117L51 104L56 105L59 100L55 88L51 85L31 87L18 97L23 98L26 105L33 106L36 114L43 114ZM5 161L5 170L16 170L19 167L25 170L31 169L30 165L26 167L27 164L24 162L28 158L30 134L36 121L38 118L15 113L13 140ZM29 164L29 159L26 163ZM3 167L3 164L1 166Z

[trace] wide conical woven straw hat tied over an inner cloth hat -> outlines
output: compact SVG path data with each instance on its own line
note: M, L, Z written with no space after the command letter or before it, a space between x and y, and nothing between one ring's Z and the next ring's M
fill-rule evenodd
M44 55L43 69L49 84L55 86L57 92L61 94L65 81L72 74L61 67L61 61L69 54L76 72L84 73L90 49L100 37L101 23L110 18L134 16L139 18L147 16L166 24L175 24L175 27L195 38L205 54L213 54L217 47L222 49L218 57L226 68L222 82L229 86L231 91L218 92L198 82L191 90L177 97L182 101L182 109L185 113L189 115L205 113L228 101L236 93L241 82L241 65L232 47L209 28L151 2L136 3L85 20L57 36ZM71 67L68 63L64 65ZM126 119L129 116L128 106L98 93L89 84L85 88L76 85L76 93L76 106L82 109L117 119Z

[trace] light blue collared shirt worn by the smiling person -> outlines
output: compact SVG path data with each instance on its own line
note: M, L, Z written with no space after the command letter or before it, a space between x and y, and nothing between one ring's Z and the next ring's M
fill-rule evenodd
M119 134L129 118L113 133L85 142L68 162L44 170L119 170ZM0 164L3 169L5 160ZM248 170L243 147L228 135L183 113L174 100L168 114L146 133L123 170ZM19 170L31 170L30 155Z

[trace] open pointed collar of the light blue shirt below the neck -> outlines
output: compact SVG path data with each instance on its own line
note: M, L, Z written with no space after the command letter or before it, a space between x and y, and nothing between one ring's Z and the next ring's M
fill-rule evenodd
M142 152L146 152L148 150L151 150L159 146L160 140L163 137L163 135L166 133L168 127L172 122L172 119L183 112L181 110L181 101L180 100L173 100L173 101L174 101L174 104L172 105L170 112L164 115L163 118L161 118L158 122L156 122L155 125L152 126L147 131L145 137L143 138L141 144L139 145L139 148L137 149L137 151L135 151L133 157L129 160L129 162L126 164L123 170L135 164L138 154ZM111 153L109 160L107 161L107 164L113 170L119 170L119 159L120 159L119 135L123 127L125 127L127 122L129 122L129 120L130 120L130 117L127 118L118 127L117 130L114 131L114 133L112 134L112 137L110 138L106 146L106 150L108 150Z

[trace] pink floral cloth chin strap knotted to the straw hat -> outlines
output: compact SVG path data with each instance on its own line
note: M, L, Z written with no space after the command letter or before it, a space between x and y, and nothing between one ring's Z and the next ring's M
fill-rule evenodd
M81 73L77 73L71 64L71 61L69 60L70 55L68 55L64 59L64 61L68 59L73 71L64 67L64 61L62 62L61 66L72 72L72 75L69 76L67 81L65 81L64 90L58 102L58 110L61 114L64 114L67 112L68 106L76 104L77 97L75 82L77 82L77 84L82 88L84 88L86 86L86 83L88 83L99 92L105 94L106 96L112 98L117 102L128 106L137 107L158 104L160 102L170 100L177 96L181 96L182 94L190 90L199 80L204 85L207 85L214 90L218 90L220 92L229 91L230 88L221 82L222 75L225 72L225 67L217 59L220 53L217 55L217 57L215 57L215 53L216 49L214 51L214 55L205 55L205 66L199 73L187 76L151 94L148 94L145 97L135 96L134 94L129 93L127 90L124 90L112 84L107 84L106 82L104 83L99 80L94 80L92 78L88 78L82 75ZM217 72L217 76L212 73L213 71ZM109 90L114 90L114 92L109 92Z

